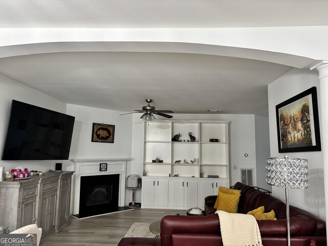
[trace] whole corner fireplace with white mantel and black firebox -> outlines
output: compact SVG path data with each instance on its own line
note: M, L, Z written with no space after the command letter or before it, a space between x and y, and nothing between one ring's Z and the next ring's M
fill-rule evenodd
M73 216L89 216L124 211L126 165L131 158L74 159ZM107 163L107 170L101 169ZM100 171L101 170L101 171Z

